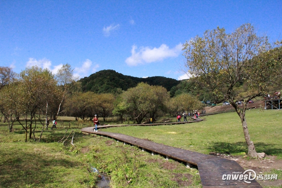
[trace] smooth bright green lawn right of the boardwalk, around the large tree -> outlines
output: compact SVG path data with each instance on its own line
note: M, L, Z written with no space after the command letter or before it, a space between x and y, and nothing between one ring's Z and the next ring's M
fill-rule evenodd
M209 154L243 155L248 152L236 112L203 116L198 123L107 128L105 131L147 138L157 143ZM282 158L282 111L251 109L246 112L251 140L257 152Z

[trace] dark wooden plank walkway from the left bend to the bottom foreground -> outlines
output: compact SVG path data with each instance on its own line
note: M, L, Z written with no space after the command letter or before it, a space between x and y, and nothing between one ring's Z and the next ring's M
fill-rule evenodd
M143 151L150 151L152 155L161 154L164 155L166 159L172 158L183 161L186 163L187 167L197 165L203 188L262 188L262 186L255 180L251 180L250 184L245 183L243 180L222 180L222 175L224 174L232 174L232 172L242 172L243 174L245 171L233 160L158 144L121 133L109 133L103 131L94 132L93 127L82 128L81 132L114 138L118 142L137 146Z

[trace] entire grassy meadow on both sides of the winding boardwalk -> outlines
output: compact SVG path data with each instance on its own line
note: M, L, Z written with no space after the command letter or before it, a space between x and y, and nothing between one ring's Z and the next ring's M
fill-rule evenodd
M147 138L204 154L245 155L248 150L243 128L235 112L201 118L204 121L199 123L128 126L102 131ZM246 118L257 152L281 159L282 111L251 109L246 113ZM0 187L94 188L99 177L92 172L92 167L111 177L112 188L201 187L197 169L187 169L174 160L166 161L159 155L152 156L110 138L82 134L80 129L92 126L92 122L73 120L60 117L57 129L44 130L40 143L34 139L25 143L25 132L17 123L13 132L9 133L7 123L0 122ZM175 120L173 118L171 121ZM70 144L73 133L65 144L58 143L64 137L69 123L71 126L66 137L74 131L74 146ZM42 126L37 126L35 136L39 138Z

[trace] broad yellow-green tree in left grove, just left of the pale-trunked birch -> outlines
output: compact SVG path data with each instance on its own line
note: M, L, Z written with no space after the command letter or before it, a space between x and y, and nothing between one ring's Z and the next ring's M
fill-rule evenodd
M37 66L28 67L19 74L19 85L21 102L23 106L22 114L25 119L25 126L18 121L27 133L29 128L29 138L32 136L32 124L35 122L34 130L36 128L36 118L42 124L42 132L44 129L44 123L41 121L40 113L39 117L36 116L38 110L43 110L46 102L52 101L55 97L54 87L57 85L54 75L48 69L41 69ZM29 117L29 125L28 125ZM33 131L34 133L34 131ZM42 135L42 134L41 134ZM41 136L40 136L41 137ZM34 136L35 139L35 136Z

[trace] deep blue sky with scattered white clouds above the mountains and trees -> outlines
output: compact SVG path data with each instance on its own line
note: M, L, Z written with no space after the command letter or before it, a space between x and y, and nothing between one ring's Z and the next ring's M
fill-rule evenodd
M282 39L282 1L0 1L0 66L69 63L80 77L112 69L184 78L182 44L207 29L251 23Z

